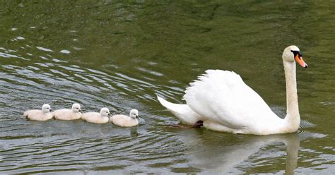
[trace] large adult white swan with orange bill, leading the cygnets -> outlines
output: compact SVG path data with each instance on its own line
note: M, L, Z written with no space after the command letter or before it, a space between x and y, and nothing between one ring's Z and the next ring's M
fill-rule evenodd
M185 90L187 104L172 104L158 97L160 104L182 123L199 125L214 131L269 135L293 133L300 125L295 61L307 68L296 46L283 52L286 78L287 114L279 118L264 100L231 71L208 70Z

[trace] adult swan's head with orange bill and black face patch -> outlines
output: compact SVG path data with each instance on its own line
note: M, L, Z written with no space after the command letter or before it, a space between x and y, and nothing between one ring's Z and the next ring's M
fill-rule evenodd
M286 47L286 49L284 49L283 61L289 61L289 62L296 61L302 67L304 68L308 67L305 61L302 59L300 49L296 46L289 46Z

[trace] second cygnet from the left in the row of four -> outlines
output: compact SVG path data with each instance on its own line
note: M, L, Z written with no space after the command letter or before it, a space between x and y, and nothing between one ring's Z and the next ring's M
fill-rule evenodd
M81 119L81 104L74 103L71 109L58 109L54 111L54 118L59 120Z

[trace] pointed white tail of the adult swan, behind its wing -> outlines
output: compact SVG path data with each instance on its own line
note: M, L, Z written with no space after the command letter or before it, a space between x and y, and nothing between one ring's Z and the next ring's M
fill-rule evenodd
M175 116L177 116L182 123L193 125L196 121L201 120L201 117L196 114L187 104L174 104L171 102L167 102L165 99L158 97L158 101L163 105L167 110L172 112Z

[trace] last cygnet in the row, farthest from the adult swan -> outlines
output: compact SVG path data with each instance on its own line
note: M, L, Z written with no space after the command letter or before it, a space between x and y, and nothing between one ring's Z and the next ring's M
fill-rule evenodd
M47 121L54 117L54 112L52 111L49 104L43 104L42 110L31 109L31 110L25 111L23 113L23 116L29 120Z

